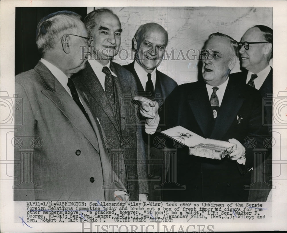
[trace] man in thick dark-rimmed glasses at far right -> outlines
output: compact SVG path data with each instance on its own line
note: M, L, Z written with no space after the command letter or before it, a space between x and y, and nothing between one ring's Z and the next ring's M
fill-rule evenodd
M264 25L256 25L249 28L238 43L240 47L241 67L244 71L231 74L230 77L240 79L251 87L259 90L264 106L263 124L269 126L269 134L272 136L272 67L269 65L272 59L273 30ZM272 160L269 152L268 160ZM255 177L255 173L256 176ZM260 178L259 178L260 177ZM253 171L255 179L249 193L249 201L266 201L272 188L272 164L261 164L258 170ZM261 182L264 180L264 182ZM259 182L260 181L260 182Z

